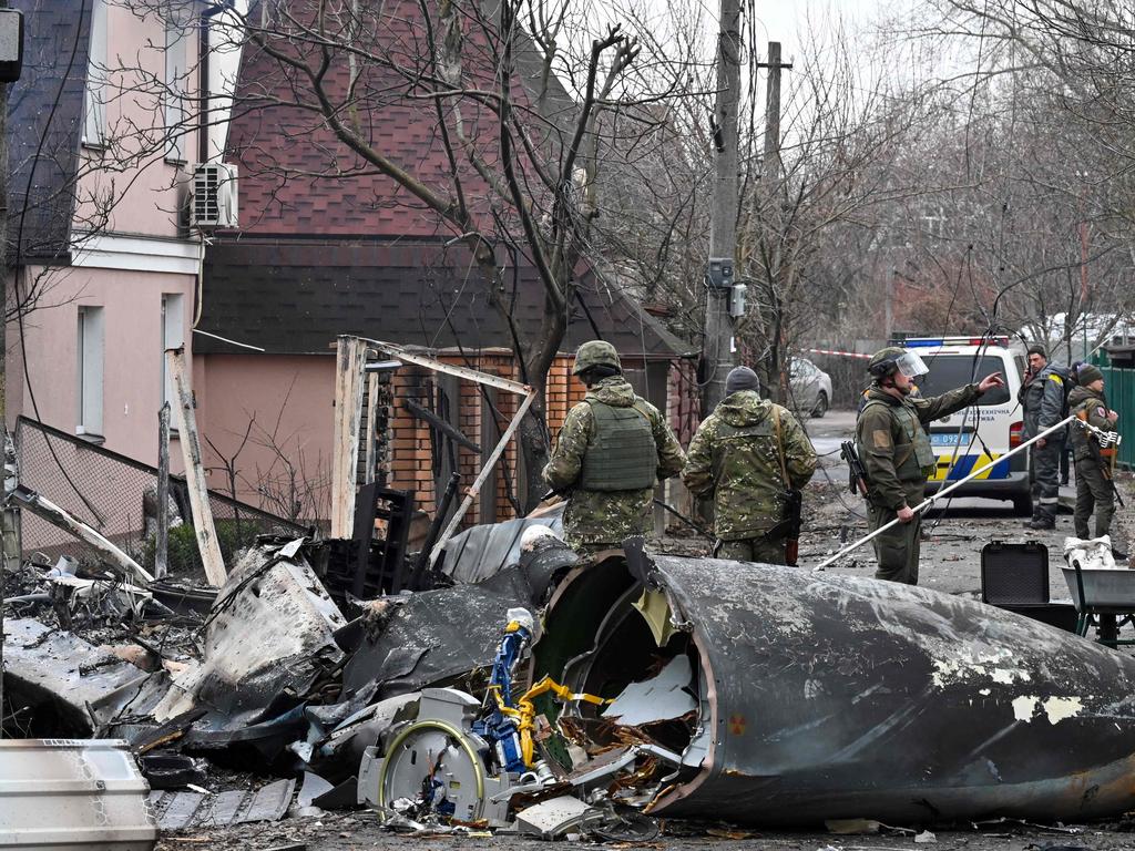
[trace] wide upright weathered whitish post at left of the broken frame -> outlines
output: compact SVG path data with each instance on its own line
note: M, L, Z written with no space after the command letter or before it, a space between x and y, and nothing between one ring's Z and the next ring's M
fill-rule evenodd
M335 443L331 447L331 538L350 538L354 525L367 343L343 335L335 354Z

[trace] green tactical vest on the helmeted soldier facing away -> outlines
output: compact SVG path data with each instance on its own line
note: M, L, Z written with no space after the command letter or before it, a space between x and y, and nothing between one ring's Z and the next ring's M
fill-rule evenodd
M595 431L579 475L582 490L641 490L653 488L658 474L658 447L649 418L637 406L615 407L596 399L591 406Z

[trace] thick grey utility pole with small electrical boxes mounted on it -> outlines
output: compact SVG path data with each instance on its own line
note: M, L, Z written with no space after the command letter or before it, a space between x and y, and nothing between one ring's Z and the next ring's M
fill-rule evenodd
M704 381L701 415L725 397L725 378L733 365L733 322L738 210L737 117L741 104L741 3L721 0L717 33L717 102L714 107L714 146L717 149L713 208L709 218L709 267L706 270L705 339L701 346ZM740 312L734 310L733 312Z

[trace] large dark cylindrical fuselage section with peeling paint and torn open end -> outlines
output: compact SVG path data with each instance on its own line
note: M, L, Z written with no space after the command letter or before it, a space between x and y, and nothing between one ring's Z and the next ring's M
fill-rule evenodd
M657 557L649 581L689 634L658 648L621 562L549 604L533 676L614 697L659 654L703 683L704 749L650 810L766 825L1004 815L1079 820L1135 807L1135 659L923 588Z

